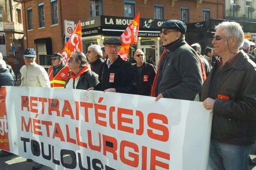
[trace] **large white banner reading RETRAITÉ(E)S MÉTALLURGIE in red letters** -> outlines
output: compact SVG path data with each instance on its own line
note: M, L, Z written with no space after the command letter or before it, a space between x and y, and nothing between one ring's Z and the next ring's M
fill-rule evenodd
M33 87L0 96L0 148L55 170L207 170L202 102Z

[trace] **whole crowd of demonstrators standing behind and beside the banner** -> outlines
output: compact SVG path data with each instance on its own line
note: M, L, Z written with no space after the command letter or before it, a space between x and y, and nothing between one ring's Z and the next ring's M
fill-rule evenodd
M203 54L200 44L186 42L182 21L168 20L160 28L164 50L157 68L145 61L141 49L134 52L135 65L124 61L118 55L122 42L109 37L103 48L90 45L86 54L73 52L67 65L60 53L53 54L48 74L35 63L35 49L27 48L21 86L140 94L153 96L156 102L161 98L201 101L213 114L208 169L248 170L249 161L255 163L249 154L255 153L256 139L256 49L250 49L251 42L244 40L236 22L215 26L213 48L205 48ZM0 83L14 85L3 59Z

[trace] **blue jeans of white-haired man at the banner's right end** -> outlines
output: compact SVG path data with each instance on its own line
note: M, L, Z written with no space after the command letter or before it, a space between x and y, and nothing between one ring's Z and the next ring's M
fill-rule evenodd
M233 145L211 140L208 170L249 170L251 145Z

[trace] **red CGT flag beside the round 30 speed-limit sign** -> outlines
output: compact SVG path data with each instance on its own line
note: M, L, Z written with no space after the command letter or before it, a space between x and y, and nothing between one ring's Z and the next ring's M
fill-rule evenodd
M76 28L70 36L70 39L67 41L67 44L61 51L63 56L63 61L66 64L67 59L70 57L73 51L82 51L82 28L81 21L78 22Z

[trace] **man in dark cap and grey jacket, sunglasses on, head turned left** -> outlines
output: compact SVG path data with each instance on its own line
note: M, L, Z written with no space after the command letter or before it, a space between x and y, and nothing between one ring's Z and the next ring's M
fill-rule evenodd
M186 43L186 24L168 20L160 26L163 42L157 75L151 89L155 101L160 98L198 100L203 83L200 61L196 52Z

